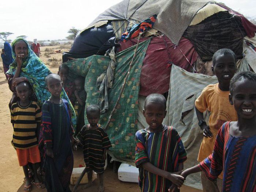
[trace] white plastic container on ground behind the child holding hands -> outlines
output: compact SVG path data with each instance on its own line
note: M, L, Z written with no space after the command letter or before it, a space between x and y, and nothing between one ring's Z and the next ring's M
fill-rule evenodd
M118 179L125 182L138 183L139 169L135 166L122 163L118 169Z

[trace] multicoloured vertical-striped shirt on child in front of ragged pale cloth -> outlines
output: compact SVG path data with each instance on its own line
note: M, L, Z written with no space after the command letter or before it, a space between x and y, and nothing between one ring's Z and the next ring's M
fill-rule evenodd
M173 173L178 164L187 159L187 153L175 128L163 125L161 132L150 133L141 129L135 134L135 164L139 168L139 187L142 192L166 192L172 182L143 169L143 163Z

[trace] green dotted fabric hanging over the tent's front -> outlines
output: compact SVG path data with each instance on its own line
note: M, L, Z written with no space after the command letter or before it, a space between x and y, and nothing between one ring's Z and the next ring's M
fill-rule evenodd
M119 159L129 159L130 161L134 159L135 133L138 130L137 116L140 72L149 43L150 39L141 42L138 46L124 93L121 95L117 110L112 116L109 128L106 130L112 143L112 147L109 150ZM136 45L116 54L117 67L114 72L114 83L113 87L108 90L109 110L101 114L99 120L99 124L102 127L105 127L108 122L110 112L120 95L129 64L135 52L135 47ZM101 102L99 87L96 86L96 81L107 70L110 61L110 57L108 56L93 55L85 59L76 59L65 63L69 67L69 77L71 79L74 79L78 75L85 77L84 89L87 93L86 107L90 104L99 104ZM85 124L87 124L86 114L84 119Z

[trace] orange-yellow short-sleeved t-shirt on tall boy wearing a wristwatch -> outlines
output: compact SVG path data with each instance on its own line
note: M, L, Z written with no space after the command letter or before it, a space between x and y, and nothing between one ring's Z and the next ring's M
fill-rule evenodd
M226 121L237 121L237 113L234 106L229 103L229 91L219 89L219 83L210 84L203 89L202 94L196 99L195 106L200 112L210 112L209 127L212 138L203 138L197 160L199 162L207 158L213 151L214 142L219 128Z

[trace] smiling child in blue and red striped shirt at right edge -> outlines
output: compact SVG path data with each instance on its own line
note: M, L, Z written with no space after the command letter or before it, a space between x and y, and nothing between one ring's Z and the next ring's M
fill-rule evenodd
M230 104L238 121L226 122L218 131L214 150L181 175L204 171L214 181L223 170L222 192L256 191L256 74L241 72L230 82Z

